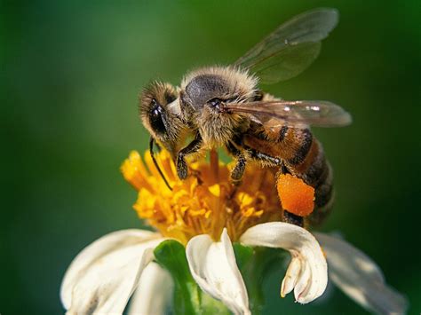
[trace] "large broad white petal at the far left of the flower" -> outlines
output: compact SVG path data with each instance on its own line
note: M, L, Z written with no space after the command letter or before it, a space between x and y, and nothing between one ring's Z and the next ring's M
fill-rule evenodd
M155 232L124 230L84 248L61 284L61 301L68 313L122 313L162 240Z

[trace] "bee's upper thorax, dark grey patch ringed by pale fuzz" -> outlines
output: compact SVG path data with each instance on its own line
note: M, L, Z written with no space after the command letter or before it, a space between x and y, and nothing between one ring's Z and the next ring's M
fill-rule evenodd
M234 67L206 67L183 80L180 106L183 116L207 112L221 114L224 105L243 102L256 92L257 80Z

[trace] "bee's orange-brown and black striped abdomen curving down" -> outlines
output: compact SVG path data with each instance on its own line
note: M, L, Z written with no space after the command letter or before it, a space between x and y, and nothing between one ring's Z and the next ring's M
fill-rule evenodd
M310 224L319 224L330 211L333 201L332 170L322 145L308 129L278 128L250 129L244 144L279 158L282 171L291 173L315 190L314 212L307 217Z

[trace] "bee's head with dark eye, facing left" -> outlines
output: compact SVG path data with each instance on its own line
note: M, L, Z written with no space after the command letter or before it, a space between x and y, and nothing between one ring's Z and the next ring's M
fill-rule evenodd
M139 95L139 115L151 136L171 154L178 149L183 123L178 115L179 92L169 83L154 82Z

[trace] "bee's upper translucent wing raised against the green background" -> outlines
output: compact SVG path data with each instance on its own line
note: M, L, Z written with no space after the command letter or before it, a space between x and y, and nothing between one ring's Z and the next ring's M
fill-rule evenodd
M304 12L276 28L234 65L250 69L262 83L288 80L312 64L319 55L322 39L337 24L335 9Z

